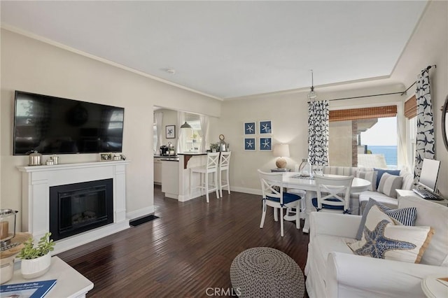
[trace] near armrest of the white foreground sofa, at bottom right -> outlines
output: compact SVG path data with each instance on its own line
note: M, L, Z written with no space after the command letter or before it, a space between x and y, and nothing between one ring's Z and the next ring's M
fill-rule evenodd
M327 297L425 297L421 281L428 275L448 276L448 267L329 253Z

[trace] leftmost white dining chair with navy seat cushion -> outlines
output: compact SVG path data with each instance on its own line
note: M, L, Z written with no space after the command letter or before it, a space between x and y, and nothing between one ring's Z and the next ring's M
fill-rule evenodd
M265 225L266 207L274 208L274 220L279 221L277 209L280 211L280 235L283 237L283 209L296 208L300 209L300 199L302 197L297 194L283 192L283 173L265 173L258 170L258 176L261 183L262 191L262 215L260 229ZM295 227L300 229L300 214L295 213Z

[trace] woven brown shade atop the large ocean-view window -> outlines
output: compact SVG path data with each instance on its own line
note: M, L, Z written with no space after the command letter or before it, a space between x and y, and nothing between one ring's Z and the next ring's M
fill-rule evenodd
M397 106L376 106L372 108L349 108L330 111L330 122L370 118L395 117Z

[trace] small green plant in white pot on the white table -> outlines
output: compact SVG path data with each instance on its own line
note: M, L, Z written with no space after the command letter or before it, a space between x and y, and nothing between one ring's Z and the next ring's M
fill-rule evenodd
M17 255L22 260L20 271L23 278L36 278L50 269L50 251L55 249L55 243L50 239L50 235L50 232L43 235L37 246L34 246L32 237L23 243L23 248Z

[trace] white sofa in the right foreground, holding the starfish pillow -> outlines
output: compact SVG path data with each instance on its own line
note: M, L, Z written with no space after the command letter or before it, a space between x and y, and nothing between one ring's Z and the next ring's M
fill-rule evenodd
M307 264L309 297L425 297L421 281L448 276L448 207L419 197L400 197L399 208L416 207L416 226L433 227L420 264L354 255L360 215L312 212Z

